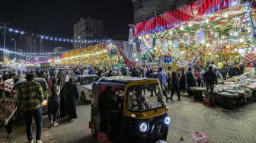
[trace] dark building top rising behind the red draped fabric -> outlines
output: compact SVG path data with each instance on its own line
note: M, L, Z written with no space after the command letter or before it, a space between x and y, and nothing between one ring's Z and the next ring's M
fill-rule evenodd
M133 2L134 23L148 20L170 9L185 5L191 0L131 0Z

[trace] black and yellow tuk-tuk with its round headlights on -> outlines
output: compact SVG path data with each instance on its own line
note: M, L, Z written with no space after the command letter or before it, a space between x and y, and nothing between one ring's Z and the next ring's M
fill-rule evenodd
M157 79L116 76L92 85L91 121L94 138L104 133L113 142L165 142L168 107Z

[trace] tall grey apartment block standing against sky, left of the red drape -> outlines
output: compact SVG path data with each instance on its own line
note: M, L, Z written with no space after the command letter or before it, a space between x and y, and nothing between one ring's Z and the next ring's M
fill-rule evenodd
M104 38L103 23L99 20L80 18L74 24L74 40L100 40ZM87 43L74 43L74 49L85 48Z

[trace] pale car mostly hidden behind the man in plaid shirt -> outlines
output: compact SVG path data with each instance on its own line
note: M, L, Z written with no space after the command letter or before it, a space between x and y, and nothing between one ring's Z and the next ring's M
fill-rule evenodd
M37 83L40 83L42 88L43 88L43 113L45 113L46 112L46 106L47 106L47 103L48 103L48 93L47 93L48 85L47 85L46 80L44 78L34 78L34 81L37 82ZM15 100L17 100L18 90L26 82L27 82L26 80L18 81L16 84L14 84L14 87L12 87L11 94L13 94L14 98L16 98Z

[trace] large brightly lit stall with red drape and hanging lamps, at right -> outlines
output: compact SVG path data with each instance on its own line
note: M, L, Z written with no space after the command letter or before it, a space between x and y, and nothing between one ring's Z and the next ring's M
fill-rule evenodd
M255 9L246 2L195 1L139 22L134 33L149 57L143 61L160 62L161 56L181 65L198 60L243 61L256 52L255 16Z

